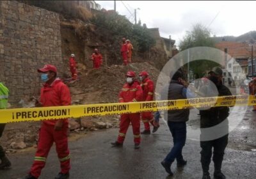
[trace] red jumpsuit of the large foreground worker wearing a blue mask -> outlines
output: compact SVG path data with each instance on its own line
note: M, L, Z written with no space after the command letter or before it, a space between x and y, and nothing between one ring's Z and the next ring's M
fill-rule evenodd
M58 105L70 105L70 91L68 87L61 82L60 79L56 79L49 84L44 84L41 89L40 102L43 106L58 106ZM37 151L33 165L30 170L30 174L38 178L41 174L41 170L45 166L45 161L51 146L56 144L56 152L60 160L61 173L68 173L70 169L70 155L68 150L68 120L63 120L63 126L61 130L54 130L54 125L58 120L45 120L42 122Z

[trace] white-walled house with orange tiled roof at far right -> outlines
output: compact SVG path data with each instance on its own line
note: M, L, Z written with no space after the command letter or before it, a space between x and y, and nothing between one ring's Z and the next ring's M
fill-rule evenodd
M226 77L223 75L225 81L230 81L230 78L232 77L232 84L239 85L246 76L251 75L250 69L248 69L248 59L252 56L252 50L249 43L222 41L216 43L216 48L231 56L230 58L227 54L223 54L223 67L231 74Z

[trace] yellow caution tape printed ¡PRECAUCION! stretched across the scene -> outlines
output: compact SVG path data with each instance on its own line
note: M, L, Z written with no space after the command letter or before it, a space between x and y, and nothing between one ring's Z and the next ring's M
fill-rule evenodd
M34 107L1 109L0 123L39 121L83 116L106 116L145 111L164 111L234 105L256 105L256 97L248 95L228 97L190 98L182 100L161 100L151 102L129 102L111 104L65 105L55 107Z

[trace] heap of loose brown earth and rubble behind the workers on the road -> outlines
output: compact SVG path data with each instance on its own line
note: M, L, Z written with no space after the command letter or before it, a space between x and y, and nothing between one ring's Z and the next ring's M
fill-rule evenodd
M149 63L132 63L129 66L102 66L99 70L79 72L79 81L70 86L72 101L78 104L96 104L118 102L118 93L125 83L125 74L132 70L138 74L145 70L156 82L159 70Z

